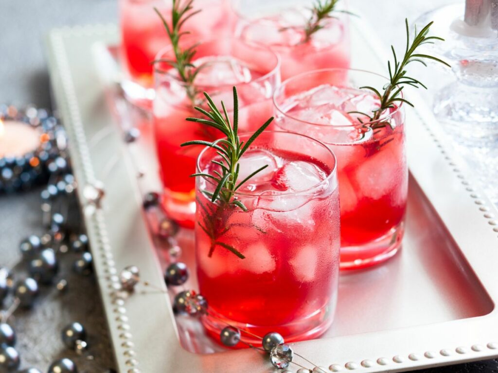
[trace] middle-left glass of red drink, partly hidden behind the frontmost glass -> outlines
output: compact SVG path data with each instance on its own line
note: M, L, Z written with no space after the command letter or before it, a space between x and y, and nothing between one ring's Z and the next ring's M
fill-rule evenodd
M172 59L171 48L158 58ZM255 130L273 114L272 94L280 83L279 59L267 48L247 45L237 39L202 42L197 47L194 64L206 64L195 80L199 93L207 92L216 104L232 102L232 87L239 91L240 131ZM169 70L168 70L169 69ZM195 213L195 161L202 146L181 148L192 139L214 141L219 132L186 121L197 115L175 70L166 64L156 65L156 97L153 120L160 176L164 186L163 208L181 225L193 228ZM204 106L199 94L195 104ZM232 111L232 107L227 107Z

